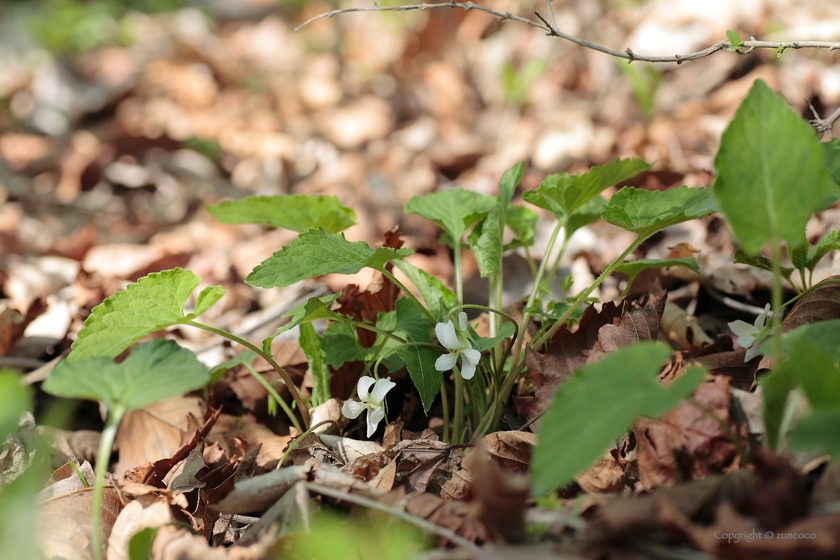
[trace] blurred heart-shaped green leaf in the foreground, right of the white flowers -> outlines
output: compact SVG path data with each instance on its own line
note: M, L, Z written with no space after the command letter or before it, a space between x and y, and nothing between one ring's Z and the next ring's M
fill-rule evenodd
M531 494L564 486L620 437L638 416L656 417L690 396L703 381L691 368L670 387L657 374L670 350L655 343L625 346L563 383L540 424L531 460Z

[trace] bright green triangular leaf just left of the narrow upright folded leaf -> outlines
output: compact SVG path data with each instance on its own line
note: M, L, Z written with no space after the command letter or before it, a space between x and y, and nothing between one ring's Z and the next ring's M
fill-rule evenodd
M495 205L494 196L455 188L411 197L405 203L405 213L419 214L442 227L454 239L461 239L467 228Z

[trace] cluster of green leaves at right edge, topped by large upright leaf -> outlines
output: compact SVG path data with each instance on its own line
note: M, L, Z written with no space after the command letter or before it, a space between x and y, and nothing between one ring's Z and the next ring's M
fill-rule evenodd
M730 39L731 40L731 39ZM734 41L733 41L734 44ZM778 325L783 305L781 284L798 270L802 288L813 289L813 273L828 252L840 249L840 232L809 247L805 225L840 196L840 141L820 143L808 124L770 88L757 81L721 139L713 185L721 211L743 250L737 262L774 272L773 309ZM781 262L787 243L792 267ZM769 245L771 258L759 251ZM766 444L773 450L788 440L793 411L804 392L813 412L793 426L791 447L840 456L840 321L780 329L762 350L773 369L759 378L764 399Z

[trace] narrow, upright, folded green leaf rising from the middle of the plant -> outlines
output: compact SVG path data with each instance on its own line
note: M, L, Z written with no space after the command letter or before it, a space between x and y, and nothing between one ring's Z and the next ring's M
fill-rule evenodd
M470 232L470 248L475 255L482 278L498 274L502 270L502 238L510 199L516 185L522 180L524 166L520 161L504 172L499 179L499 196L496 206L486 218Z

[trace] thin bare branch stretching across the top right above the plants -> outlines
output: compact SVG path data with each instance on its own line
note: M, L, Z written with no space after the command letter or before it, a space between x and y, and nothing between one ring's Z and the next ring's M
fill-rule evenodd
M343 8L340 10L330 10L329 12L323 13L319 16L315 16L314 18L307 20L306 22L300 24L295 28L295 31L299 31L303 27L306 27L313 21L322 19L322 18L331 18L333 16L339 14L347 14L350 12L407 12L412 10L419 10L425 11L432 8L460 8L463 9L465 12L470 10L479 10L481 12L486 12L488 14L494 15L501 19L502 21L510 19L513 21L518 21L519 23L524 23L526 25L531 25L538 29L542 29L545 31L546 35L549 37L560 37L561 39L565 39L567 41L571 41L576 45L580 45L581 47L586 47L587 49L592 49L594 51L602 52L604 54L608 54L610 56L614 56L616 58L623 58L627 60L627 62L675 62L677 64L682 64L687 60L697 60L698 58L704 58L711 54L714 54L718 51L728 49L733 47L732 43L729 41L718 41L711 47L703 49L702 51L697 51L689 54L675 54L674 56L647 56L636 54L632 50L625 49L622 51L616 51L613 49L608 49L607 47L603 47L601 45L596 45L595 43L590 43L589 41L584 41L583 39L578 39L577 37L573 37L567 33L563 33L557 28L556 23L554 23L554 10L551 8L551 0L547 0L548 2L548 10L549 10L549 18L551 22L546 20L539 12L535 12L536 16L540 19L542 23L525 19L523 17L515 16L510 12L500 12L498 10L493 10L491 8L487 8L484 6L479 6L478 4L474 4L472 2L445 2L442 4L412 4L408 6L393 6L393 7L385 7L385 6L373 6L369 8ZM831 42L831 41L756 41L755 38L750 37L749 41L744 41L737 47L735 47L738 54L749 54L753 52L755 49L776 49L780 54L787 49L828 49L833 51L835 49L840 49L840 42Z

